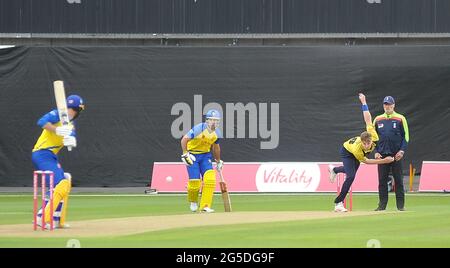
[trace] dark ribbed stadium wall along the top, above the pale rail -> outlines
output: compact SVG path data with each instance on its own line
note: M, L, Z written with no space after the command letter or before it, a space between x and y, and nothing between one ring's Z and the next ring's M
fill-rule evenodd
M0 33L448 33L447 0L0 0Z

